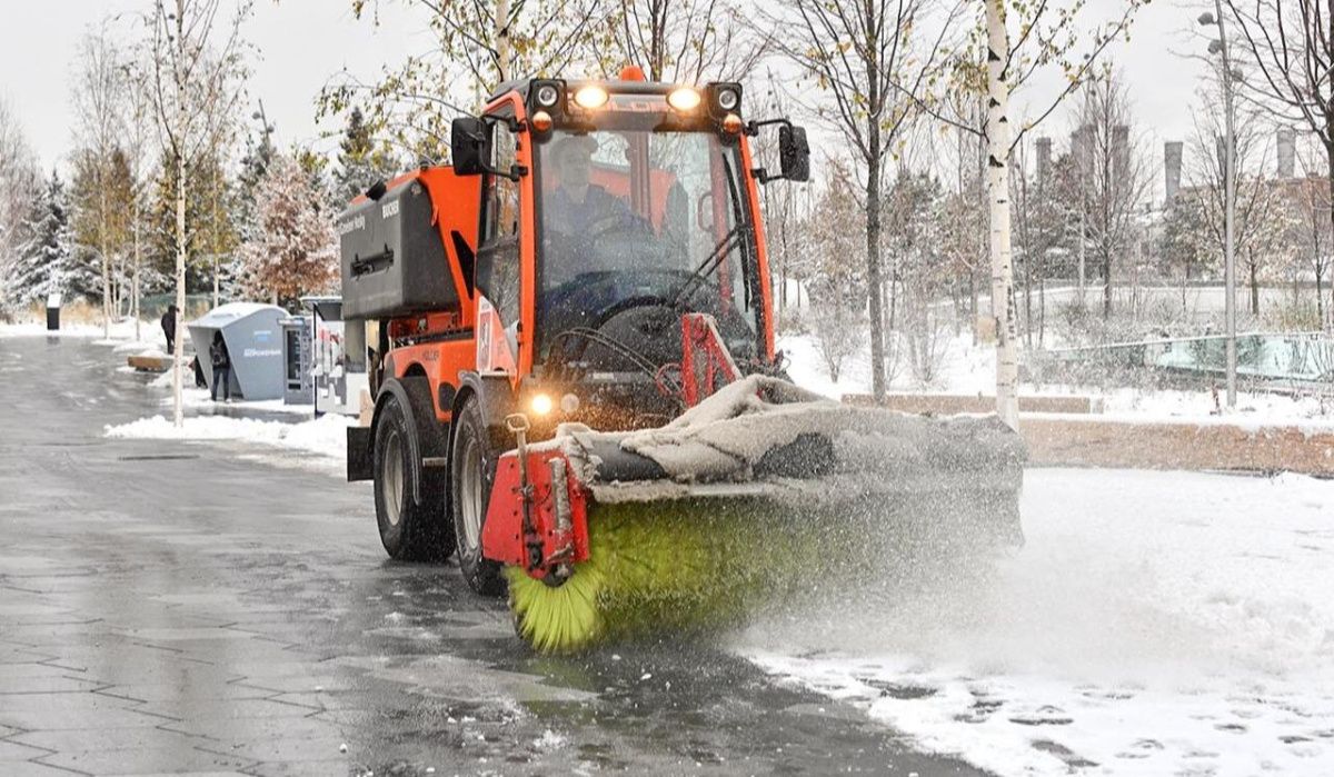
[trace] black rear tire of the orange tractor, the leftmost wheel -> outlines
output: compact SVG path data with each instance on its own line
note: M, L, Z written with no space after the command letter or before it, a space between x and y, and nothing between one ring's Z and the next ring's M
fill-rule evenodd
M434 421L434 419L432 419ZM446 521L446 481L423 470L422 503L412 499L412 446L407 413L390 395L375 425L375 522L380 542L398 561L444 561L454 551L454 527Z

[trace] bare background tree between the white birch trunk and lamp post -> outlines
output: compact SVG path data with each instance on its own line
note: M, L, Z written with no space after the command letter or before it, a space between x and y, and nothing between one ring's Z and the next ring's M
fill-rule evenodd
M1085 234L1102 275L1102 315L1111 318L1113 272L1131 248L1137 211L1153 182L1133 134L1130 97L1122 76L1107 71L1085 85L1074 134L1075 164L1082 179Z

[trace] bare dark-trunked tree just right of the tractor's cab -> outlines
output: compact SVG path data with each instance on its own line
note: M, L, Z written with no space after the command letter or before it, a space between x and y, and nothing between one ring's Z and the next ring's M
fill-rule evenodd
M832 108L811 108L852 150L866 206L866 268L871 314L871 388L884 379L884 268L880 258L886 167L947 52L962 0L940 15L928 0L784 0L768 24L786 28L774 45L815 79ZM927 33L924 31L934 29Z

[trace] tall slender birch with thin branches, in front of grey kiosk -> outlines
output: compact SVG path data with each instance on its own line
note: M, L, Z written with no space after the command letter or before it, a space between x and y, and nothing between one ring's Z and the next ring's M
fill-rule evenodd
M227 4L229 5L229 4ZM163 156L175 171L176 331L185 310L185 263L191 224L185 220L188 172L216 152L241 97L241 21L249 3L229 20L223 0L155 0L152 27L152 103ZM172 354L173 418L181 426L181 347Z

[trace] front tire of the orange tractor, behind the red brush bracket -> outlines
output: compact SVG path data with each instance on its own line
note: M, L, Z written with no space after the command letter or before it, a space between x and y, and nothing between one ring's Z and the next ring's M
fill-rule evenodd
M482 558L482 523L491 503L498 454L475 398L468 398L454 419L450 451L450 514L458 538L459 569L474 591L500 595L506 591L502 565Z

